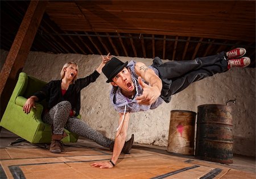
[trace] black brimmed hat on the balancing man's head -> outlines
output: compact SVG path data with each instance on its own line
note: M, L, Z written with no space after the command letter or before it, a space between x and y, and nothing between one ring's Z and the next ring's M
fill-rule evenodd
M106 65L102 68L102 72L108 78L106 82L111 82L112 78L114 78L125 66L127 66L128 62L123 63L117 58L113 57L109 60Z

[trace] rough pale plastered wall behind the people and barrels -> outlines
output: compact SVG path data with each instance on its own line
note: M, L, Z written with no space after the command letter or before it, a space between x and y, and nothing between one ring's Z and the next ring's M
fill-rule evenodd
M6 52L1 51L2 58ZM118 57L130 61L130 57ZM133 58L146 65L151 59ZM58 54L31 52L23 72L44 81L60 78L60 70L68 61L79 64L79 77L92 73L101 63L99 55ZM108 138L114 138L118 127L118 114L109 102L110 84L101 75L96 82L81 91L81 115L92 128ZM197 113L197 106L222 104L228 99L237 99L233 109L234 153L255 156L255 68L234 68L229 72L193 83L187 89L173 95L170 103L158 109L131 114L127 138L135 135L141 144L168 145L168 130L171 110L190 110Z

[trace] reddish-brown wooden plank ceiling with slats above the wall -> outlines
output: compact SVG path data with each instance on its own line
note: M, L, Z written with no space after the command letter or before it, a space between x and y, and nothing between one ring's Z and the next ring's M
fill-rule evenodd
M1 1L1 49L29 3ZM255 68L255 1L49 1L31 51L191 60L236 47Z

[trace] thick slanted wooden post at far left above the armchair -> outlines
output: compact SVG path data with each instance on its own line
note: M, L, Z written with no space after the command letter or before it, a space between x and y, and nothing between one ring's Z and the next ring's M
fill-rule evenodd
M8 91L13 91L14 89L16 84L16 76L26 62L47 3L48 1L31 1L30 5L28 6L26 14L24 15L22 23L20 24L19 30L14 39L13 45L11 46L10 52L6 57L5 64L3 64L1 69L1 97L8 79L12 81L10 86L8 86ZM10 95L8 95L8 97L9 96Z

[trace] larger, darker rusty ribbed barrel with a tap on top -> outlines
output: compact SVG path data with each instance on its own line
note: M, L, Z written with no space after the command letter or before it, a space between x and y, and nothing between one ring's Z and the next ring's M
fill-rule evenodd
M223 164L233 163L232 126L230 106L198 106L195 156Z

